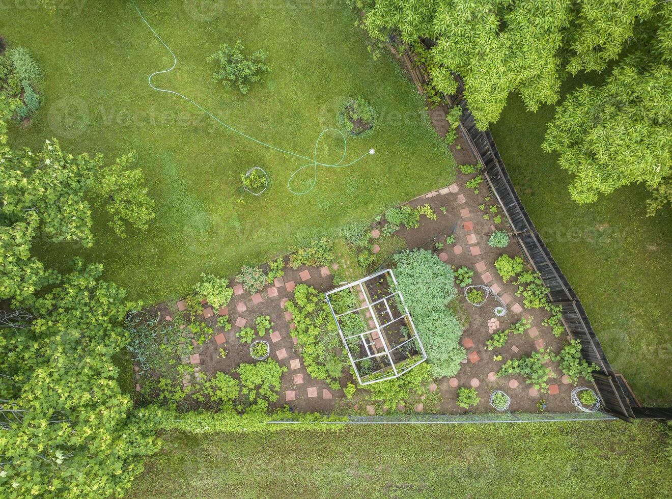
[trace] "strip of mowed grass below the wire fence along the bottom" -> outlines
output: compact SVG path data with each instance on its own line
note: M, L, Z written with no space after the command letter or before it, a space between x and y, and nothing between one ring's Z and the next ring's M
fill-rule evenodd
M664 426L650 422L351 425L165 438L128 497L672 494Z

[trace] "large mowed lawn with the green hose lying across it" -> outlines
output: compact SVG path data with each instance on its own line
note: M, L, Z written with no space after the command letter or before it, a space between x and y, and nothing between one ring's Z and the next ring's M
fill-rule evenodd
M216 2L214 15L185 11L189 2L138 4L177 55L177 69L155 77L155 85L307 157L320 132L335 126L339 104L362 95L378 122L370 137L348 140L344 162L370 148L376 153L347 168L319 167L310 194L290 194L288 178L305 160L239 137L147 85L150 73L173 60L130 2L87 2L79 13L72 5L53 17L11 5L0 16L0 34L29 48L45 72L44 107L28 128L10 127L11 145L40 149L56 137L71 153L101 152L108 161L134 150L157 204L149 230L129 231L126 239L95 213L93 247L42 244L40 257L50 265L81 255L103 263L107 278L133 299L177 297L201 272L234 275L242 264L284 254L302 239L370 219L454 179L454 159L431 130L423 100L392 61L372 60L354 13L341 2ZM264 50L271 68L244 96L213 83L214 67L206 62L220 43L236 40L249 51ZM342 148L329 132L318 160L335 163ZM239 204L239 176L253 166L267 171L269 188ZM305 172L311 180L312 168Z

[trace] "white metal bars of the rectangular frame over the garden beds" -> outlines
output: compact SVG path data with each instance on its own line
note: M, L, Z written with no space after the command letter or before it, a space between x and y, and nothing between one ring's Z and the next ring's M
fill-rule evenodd
M369 291L365 286L365 284L370 280L381 278L381 276L384 275L388 277L387 282L389 287L389 294L382 298L377 298L372 301L369 295ZM349 290L351 293L358 293L360 296L359 300L360 306L355 309L337 313L334 310L333 306L331 305L331 301L329 301L329 296L344 290ZM364 297L363 301L362 296ZM421 362L427 360L427 354L425 354L425 348L423 347L423 344L419 336L417 335L415 325L413 324L413 319L411 318L411 314L409 313L409 309L407 309L406 304L404 303L404 297L401 295L401 291L398 291L398 286L396 284L396 279L394 278L394 273L392 273L392 270L390 269L381 270L380 272L371 274L370 276L367 276L363 279L356 280L355 282L351 282L349 284L345 284L344 286L340 286L336 289L332 289L331 291L325 293L325 297L327 299L327 304L329 305L329 309L331 310L331 314L333 315L334 321L336 322L339 335L341 336L341 340L343 340L343 345L345 345L347 356L350 359L350 362L352 364L352 367L355 371L355 375L357 376L357 380L360 383L360 385L368 385L370 383L377 383L378 381L394 379L398 376L403 375L403 373L406 373L407 371L413 369L418 364L421 364ZM398 312L397 314L398 317L395 317L394 313L392 313L392 308L390 308L389 303L390 299L394 299L394 303L396 303L396 305L392 304L392 308L396 309L396 311ZM376 305L380 304L384 304L385 310L383 311L383 314L386 313L389 316L389 320L386 322L383 321L378 311L376 311ZM361 314L360 316L362 317L362 320L366 324L368 317L364 317L363 315L367 311L371 316L370 318L373 319L374 321L375 327L373 329L370 329L370 326L366 326L365 328L366 331L364 332L357 332L356 334L351 334L351 332L347 333L343 332L343 329L341 328L341 321L339 321L339 317L343 317L343 315L347 315L350 313L355 313L357 315ZM388 328L392 323L396 323L397 321L404 321L405 325L407 325L409 331L413 334L413 336L398 344L391 344L390 338L386 334L386 328ZM352 352L350 350L347 340L351 340L353 338L358 338L358 340L362 342L364 350L366 351L366 356L362 357L360 355L360 352ZM378 345L380 346L376 346L376 340L378 338L380 338L380 342L378 342ZM395 363L394 358L392 358L392 354L394 353L395 350L397 350L398 348L400 348L405 344L408 344L409 342L415 342L417 353L403 360L402 362ZM372 361L386 360L387 362L389 362L389 364L385 367L378 369L377 371L374 371L373 373L369 373L362 376L362 374L360 373L360 369L358 367L358 362L362 362L362 360L367 359L370 359ZM407 362L407 360L413 360L413 361Z

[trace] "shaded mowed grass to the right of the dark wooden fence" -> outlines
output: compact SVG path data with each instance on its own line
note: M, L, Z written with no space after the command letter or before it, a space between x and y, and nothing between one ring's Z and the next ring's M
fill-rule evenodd
M625 375L643 405L670 406L672 210L647 218L643 186L583 206L571 200L571 176L540 147L553 109L526 112L511 95L491 128L497 149L614 370Z

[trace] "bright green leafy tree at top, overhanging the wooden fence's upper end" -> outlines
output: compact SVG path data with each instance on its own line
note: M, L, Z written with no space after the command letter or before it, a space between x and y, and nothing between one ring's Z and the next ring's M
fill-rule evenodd
M378 39L431 40L431 83L454 93L452 73L476 124L499 118L518 91L530 110L558 100L569 71L601 70L620 53L653 0L372 0L363 24Z

